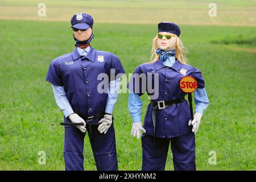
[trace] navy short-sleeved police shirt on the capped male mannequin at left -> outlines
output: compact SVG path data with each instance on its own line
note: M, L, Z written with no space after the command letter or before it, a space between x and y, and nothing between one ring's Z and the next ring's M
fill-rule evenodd
M114 78L110 77L110 72ZM98 85L104 80L98 80L101 73L108 76L108 80L105 80L108 84L111 79L121 77L125 71L121 61L113 53L97 51L91 47L88 54L83 56L75 48L72 53L57 57L51 62L46 81L64 86L69 104L75 113L91 116L104 112L108 100L108 92L98 92ZM97 122L99 119L94 120L93 122Z

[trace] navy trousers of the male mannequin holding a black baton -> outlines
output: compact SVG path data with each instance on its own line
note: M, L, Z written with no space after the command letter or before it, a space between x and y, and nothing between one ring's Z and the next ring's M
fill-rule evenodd
M113 123L106 134L98 131L98 125L91 130L86 125L90 145L98 171L117 171L117 152L115 149L115 131ZM64 160L66 171L84 170L84 137L85 134L74 126L65 127Z

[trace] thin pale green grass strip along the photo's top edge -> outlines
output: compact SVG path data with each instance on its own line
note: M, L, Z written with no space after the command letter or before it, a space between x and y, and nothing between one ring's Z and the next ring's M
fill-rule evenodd
M39 0L0 0L1 6L36 6L42 1ZM107 3L106 3L107 2ZM142 9L203 9L205 4L209 4L210 0L191 1L191 0L44 0L48 6L52 7L90 7L90 8L142 8ZM251 5L255 5L255 0L216 0L214 3L221 4L221 8L224 9L240 9L250 8ZM232 6L230 6L232 3ZM252 7L251 7L252 8Z

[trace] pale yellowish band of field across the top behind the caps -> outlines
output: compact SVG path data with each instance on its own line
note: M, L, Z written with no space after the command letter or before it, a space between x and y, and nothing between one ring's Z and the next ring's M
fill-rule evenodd
M39 3L46 16L39 17ZM215 0L217 16L209 17L211 0L0 0L0 19L68 22L73 14L93 15L96 23L156 24L163 20L189 25L256 26L255 0Z

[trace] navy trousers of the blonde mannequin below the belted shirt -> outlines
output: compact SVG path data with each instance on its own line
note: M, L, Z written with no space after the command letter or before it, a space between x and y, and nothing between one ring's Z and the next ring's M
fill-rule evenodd
M193 132L174 138L158 138L142 135L142 171L164 171L171 142L175 171L195 171L195 134Z

